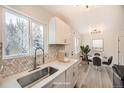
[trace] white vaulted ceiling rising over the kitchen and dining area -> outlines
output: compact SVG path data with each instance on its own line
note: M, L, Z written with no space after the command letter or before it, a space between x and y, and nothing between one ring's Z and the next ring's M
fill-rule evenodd
M87 32L89 25L113 24L120 17L122 6L114 5L44 5L43 9L58 16L80 33Z

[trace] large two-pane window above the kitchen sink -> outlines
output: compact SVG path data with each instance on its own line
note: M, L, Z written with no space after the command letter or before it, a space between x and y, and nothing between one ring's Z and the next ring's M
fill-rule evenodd
M44 24L8 10L5 11L4 19L4 59L31 55L37 47L44 48L44 29L46 27ZM45 47L48 47L47 43L45 44Z

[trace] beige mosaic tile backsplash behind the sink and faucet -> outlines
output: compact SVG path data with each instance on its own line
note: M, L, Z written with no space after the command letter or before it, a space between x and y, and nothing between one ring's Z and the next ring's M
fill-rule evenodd
M45 63L56 60L57 52L60 49L63 50L64 46L49 45L48 54L45 54ZM2 51L2 47L0 47L0 51ZM33 67L33 62L34 62L34 56L0 60L0 63L2 63L4 66L0 74L2 75L2 77L8 77L10 75L14 75L23 72L25 70L29 70ZM37 55L37 64L42 65L42 55Z

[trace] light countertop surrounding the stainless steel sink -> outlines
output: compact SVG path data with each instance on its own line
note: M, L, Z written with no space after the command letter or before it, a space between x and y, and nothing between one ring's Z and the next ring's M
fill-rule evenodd
M41 88L53 79L55 79L57 76L59 76L61 73L63 73L65 70L67 70L69 67L71 67L73 64L78 62L77 59L70 59L70 62L60 62L60 61L53 61L50 63L46 63L44 65L41 65L39 69L34 70L34 71L24 71L19 74L9 76L7 78L4 78L0 81L0 88L21 88L21 85L18 83L17 79L26 76L28 74L34 73L35 71L39 71L47 66L54 67L58 69L58 71L51 76L39 81L38 83L34 84L32 88Z

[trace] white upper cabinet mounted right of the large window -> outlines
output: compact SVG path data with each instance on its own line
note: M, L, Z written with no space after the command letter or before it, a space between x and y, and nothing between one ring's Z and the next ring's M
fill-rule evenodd
M49 22L49 44L69 44L70 27L61 19L53 17Z

